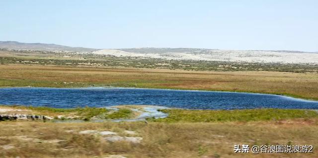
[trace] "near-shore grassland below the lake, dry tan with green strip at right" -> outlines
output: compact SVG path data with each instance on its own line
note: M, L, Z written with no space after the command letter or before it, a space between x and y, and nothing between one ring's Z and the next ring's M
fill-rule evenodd
M7 107L7 106L3 106ZM15 107L19 108L19 107ZM52 113L87 109L21 107ZM21 109L20 108L20 109ZM96 109L94 109L95 111ZM235 144L318 146L318 113L300 109L184 110L166 109L167 118L137 122L53 123L1 121L3 158L317 158L310 154L236 154ZM141 143L109 142L99 134L141 137ZM127 134L124 131L134 131ZM1 150L2 149L2 150Z

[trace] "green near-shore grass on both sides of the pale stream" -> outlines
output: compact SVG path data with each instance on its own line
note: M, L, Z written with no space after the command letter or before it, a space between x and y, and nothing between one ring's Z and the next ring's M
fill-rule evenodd
M8 107L8 106L6 106ZM32 114L55 116L55 119L67 119L67 116L77 116L72 119L89 120L132 118L134 113L129 108L111 110L102 107L51 108L34 106L9 106L16 109L31 110ZM190 109L160 109L168 113L165 118L149 118L154 122L230 122L230 121L266 121L294 118L318 118L318 111L311 109L236 109L236 110L190 110ZM31 114L31 113L30 113ZM63 115L63 118L56 116Z

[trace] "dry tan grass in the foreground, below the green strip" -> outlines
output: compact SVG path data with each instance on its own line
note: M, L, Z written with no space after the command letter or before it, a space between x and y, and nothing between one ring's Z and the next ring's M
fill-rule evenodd
M312 154L235 154L235 144L318 146L317 120L225 123L1 122L2 158L317 158ZM235 129L235 130L233 130ZM83 130L136 131L142 143L107 142ZM73 132L69 132L73 131ZM121 134L125 136L125 134ZM21 137L22 136L22 137ZM55 143L58 142L58 143Z

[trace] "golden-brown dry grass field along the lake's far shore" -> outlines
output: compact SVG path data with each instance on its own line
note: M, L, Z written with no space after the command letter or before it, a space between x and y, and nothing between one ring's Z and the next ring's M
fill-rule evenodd
M284 94L318 100L318 74L0 65L0 87L139 87Z

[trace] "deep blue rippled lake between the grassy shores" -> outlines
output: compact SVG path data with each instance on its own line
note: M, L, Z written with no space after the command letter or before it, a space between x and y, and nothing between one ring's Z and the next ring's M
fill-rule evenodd
M318 102L278 95L135 88L0 88L0 105L60 108L86 105L162 105L190 109L318 109Z

